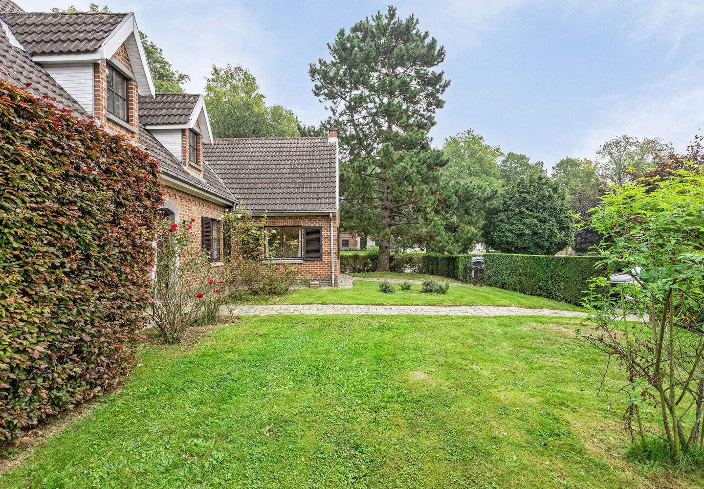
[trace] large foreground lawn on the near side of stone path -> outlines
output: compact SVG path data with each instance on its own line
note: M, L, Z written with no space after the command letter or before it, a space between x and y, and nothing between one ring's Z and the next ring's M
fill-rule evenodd
M626 461L573 323L246 318L143 349L124 390L2 487L701 487Z

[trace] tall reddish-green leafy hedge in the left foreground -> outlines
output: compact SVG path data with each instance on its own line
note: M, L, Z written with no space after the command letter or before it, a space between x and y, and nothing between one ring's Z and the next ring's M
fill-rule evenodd
M146 326L152 156L0 80L0 442L115 385Z

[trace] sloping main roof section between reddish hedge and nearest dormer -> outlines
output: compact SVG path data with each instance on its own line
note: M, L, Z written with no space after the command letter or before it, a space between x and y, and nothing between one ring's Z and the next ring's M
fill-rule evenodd
M4 70L0 71L0 79L17 87L30 83L26 90L34 97L49 95L57 106L73 110L75 116L88 116L82 106L58 85L49 73L32 63L22 51L10 44L3 30L0 30L0 68Z

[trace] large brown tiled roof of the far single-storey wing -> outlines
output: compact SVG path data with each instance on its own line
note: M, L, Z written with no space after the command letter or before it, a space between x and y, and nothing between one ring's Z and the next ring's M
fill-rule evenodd
M203 156L242 209L334 211L335 144L327 137L216 139Z

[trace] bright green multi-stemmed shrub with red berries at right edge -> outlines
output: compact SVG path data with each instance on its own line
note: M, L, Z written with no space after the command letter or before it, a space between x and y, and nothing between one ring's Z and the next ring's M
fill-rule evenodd
M610 237L596 250L604 276L585 299L596 326L578 333L604 353L605 368L617 361L622 387L613 392L625 428L639 433L635 450L691 463L704 447L704 174L612 185L602 201L591 223ZM617 294L614 272L631 278ZM646 442L649 433L658 438Z

